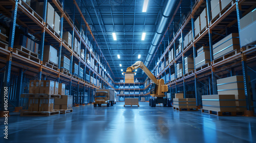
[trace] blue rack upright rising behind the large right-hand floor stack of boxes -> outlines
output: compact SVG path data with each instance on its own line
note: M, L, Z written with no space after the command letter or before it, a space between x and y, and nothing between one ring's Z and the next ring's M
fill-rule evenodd
M206 0L206 6L207 6L207 19L208 19L208 25L210 25L210 0ZM210 62L212 65L212 61L214 60L214 51L212 47L212 34L211 30L209 29L209 47L210 47ZM212 88L212 94L218 94L217 92L217 80L215 77L215 69L211 66L211 88Z

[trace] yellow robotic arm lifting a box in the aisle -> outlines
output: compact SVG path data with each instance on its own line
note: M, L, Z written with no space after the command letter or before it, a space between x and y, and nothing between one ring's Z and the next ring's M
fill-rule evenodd
M150 78L154 83L154 87L151 89L151 96L153 97L165 97L164 92L168 91L167 85L164 85L163 79L157 79L150 70L147 69L147 67L143 64L141 61L137 61L135 64L133 64L130 67L127 67L126 73L131 73L134 69L141 68L145 74ZM153 89L154 88L154 89Z

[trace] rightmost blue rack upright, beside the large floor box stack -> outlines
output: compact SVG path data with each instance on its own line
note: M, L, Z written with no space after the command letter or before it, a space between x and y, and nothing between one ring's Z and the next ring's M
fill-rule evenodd
M238 0L236 0L236 10L237 10L237 18L238 18L238 31L239 31L239 43L241 43L240 40L240 17L242 16L241 11L239 10ZM243 79L244 79L244 92L246 97L246 109L252 110L251 107L251 95L249 91L249 79L248 79L248 70L247 70L247 63L246 63L246 56L243 54L243 47L240 44L241 49L241 59L242 59L242 71L243 71ZM247 113L245 113L247 114ZM253 115L253 114L252 114Z

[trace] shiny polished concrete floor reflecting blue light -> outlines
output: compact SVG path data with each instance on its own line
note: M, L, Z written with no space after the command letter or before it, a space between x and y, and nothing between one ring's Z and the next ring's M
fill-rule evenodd
M256 118L218 117L171 107L75 107L49 117L9 117L8 140L0 142L256 142Z

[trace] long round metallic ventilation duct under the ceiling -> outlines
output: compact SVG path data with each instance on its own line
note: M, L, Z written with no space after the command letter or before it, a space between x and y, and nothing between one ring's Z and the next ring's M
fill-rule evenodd
M157 49L157 45L159 43L159 40L161 39L161 37L163 36L163 32L165 30L166 27L166 23L168 22L168 19L170 16L172 16L174 14L175 11L175 6L180 2L180 0L168 0L163 12L162 12L162 17L159 21L159 24L157 26L157 30L156 33L154 35L154 38L151 42L151 46L150 46L150 50L148 51L147 57L146 57L146 61L145 61L145 66L148 66L148 64L150 63L152 56L154 55L156 49Z

